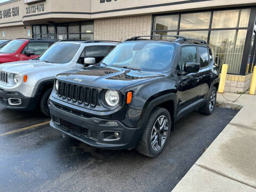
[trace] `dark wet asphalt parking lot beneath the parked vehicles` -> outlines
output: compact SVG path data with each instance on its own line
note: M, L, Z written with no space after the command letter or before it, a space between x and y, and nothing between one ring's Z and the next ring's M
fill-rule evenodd
M0 191L171 191L236 113L189 114L163 153L149 158L92 148L51 129L41 114L0 107Z

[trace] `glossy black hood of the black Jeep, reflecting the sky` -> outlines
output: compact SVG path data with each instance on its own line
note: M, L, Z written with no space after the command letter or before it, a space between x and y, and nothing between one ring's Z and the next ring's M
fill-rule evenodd
M68 71L60 74L58 79L102 89L121 90L128 85L161 76L163 75L132 69L91 67L89 69Z

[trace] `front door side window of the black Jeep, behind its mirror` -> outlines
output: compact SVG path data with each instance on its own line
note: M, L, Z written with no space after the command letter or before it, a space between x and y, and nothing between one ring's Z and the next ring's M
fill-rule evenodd
M197 52L195 46L185 46L181 48L181 70L187 62L197 62Z

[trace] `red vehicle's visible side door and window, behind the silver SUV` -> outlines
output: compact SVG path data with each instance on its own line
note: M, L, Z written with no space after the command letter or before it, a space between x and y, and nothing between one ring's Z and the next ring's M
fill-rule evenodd
M29 60L29 59L35 59L39 55L41 55L52 43L49 42L29 42L24 49L20 53L20 60ZM31 55L28 57L25 55L25 51L27 50L33 50L35 51L35 55Z

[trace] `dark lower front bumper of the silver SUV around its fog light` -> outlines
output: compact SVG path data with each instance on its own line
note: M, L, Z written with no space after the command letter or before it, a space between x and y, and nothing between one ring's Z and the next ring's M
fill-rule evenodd
M9 99L19 100L20 104L10 105ZM19 92L5 91L0 89L0 105L8 109L26 109L35 110L36 98L25 97Z

